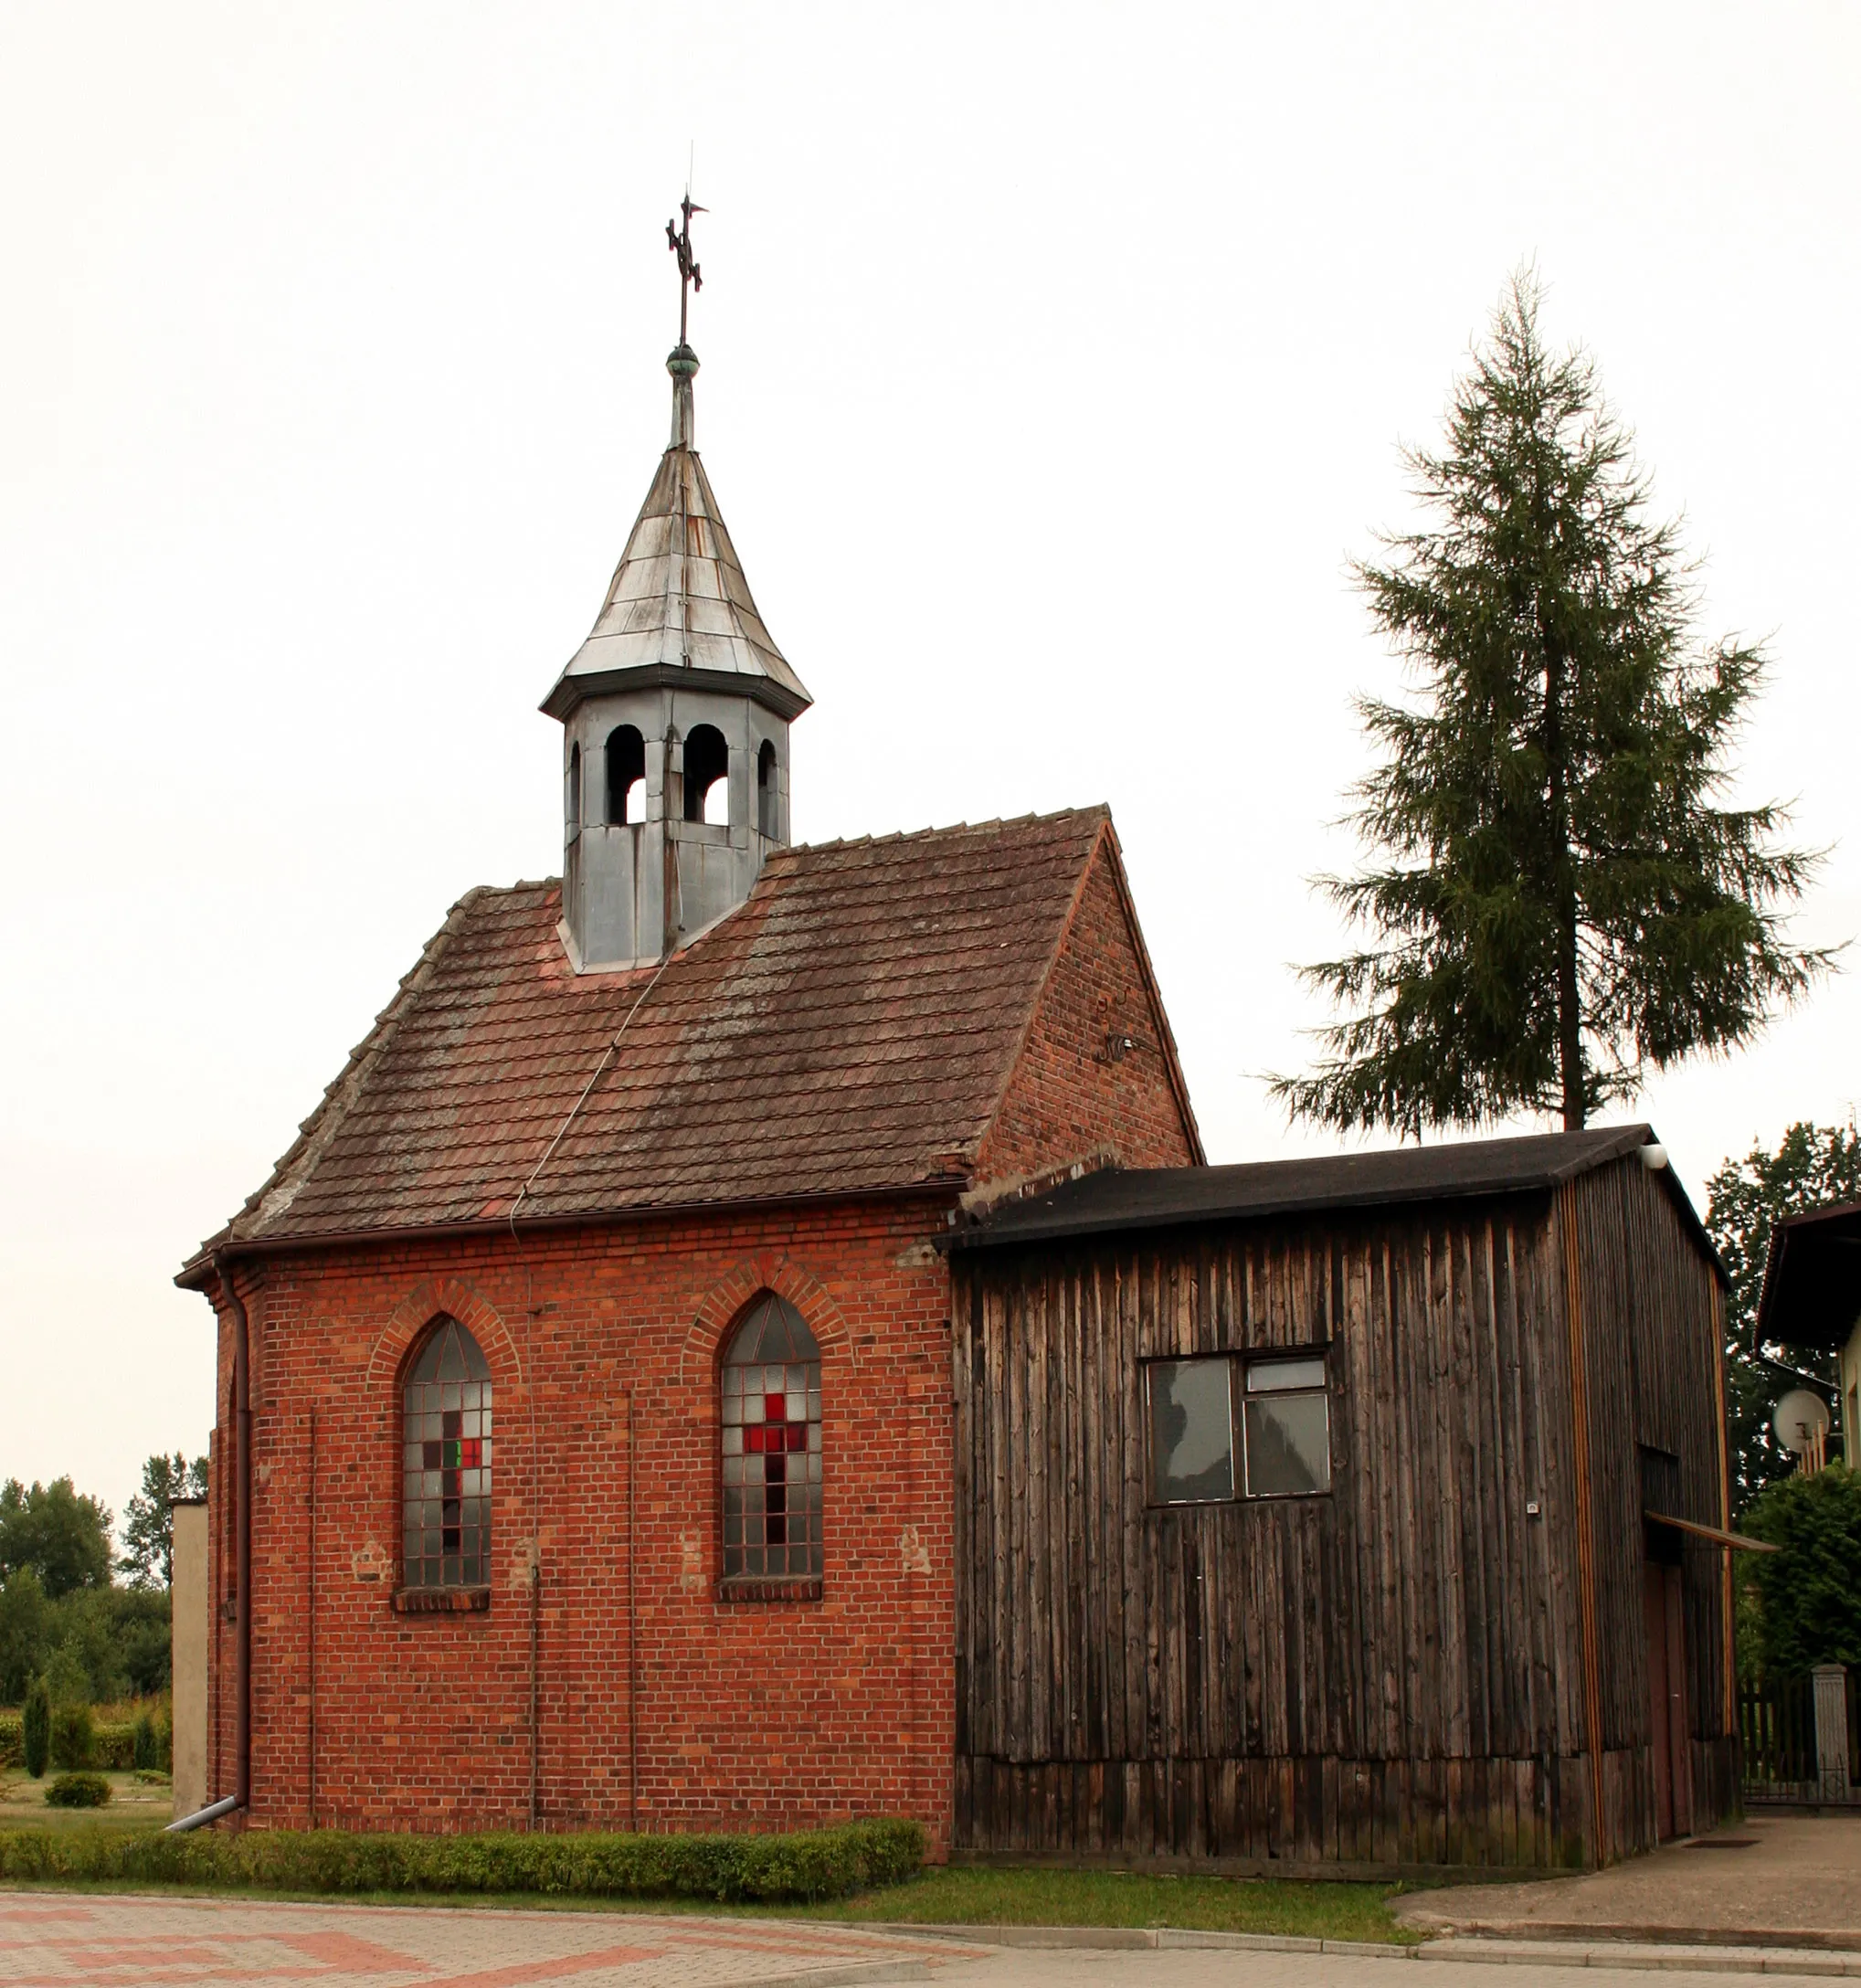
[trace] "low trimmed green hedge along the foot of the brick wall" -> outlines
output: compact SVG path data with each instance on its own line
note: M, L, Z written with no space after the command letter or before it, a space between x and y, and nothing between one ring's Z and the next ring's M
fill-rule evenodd
M362 1835L348 1829L0 1829L0 1879L264 1891L837 1899L923 1867L925 1831L877 1819L793 1835Z

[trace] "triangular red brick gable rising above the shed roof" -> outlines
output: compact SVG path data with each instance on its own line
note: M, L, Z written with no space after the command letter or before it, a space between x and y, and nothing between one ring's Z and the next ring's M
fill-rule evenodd
M1038 1173L1101 1147L1125 1167L1183 1167L1201 1157L1171 1085L1169 1024L1151 996L1115 865L1115 845L1100 841L984 1141L982 1181ZM1107 1036L1131 1036L1137 1046L1113 1060Z

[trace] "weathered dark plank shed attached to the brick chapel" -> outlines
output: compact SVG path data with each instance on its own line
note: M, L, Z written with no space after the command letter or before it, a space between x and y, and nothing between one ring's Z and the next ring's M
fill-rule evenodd
M1589 1867L1738 1807L1724 1272L1646 1125L950 1244L958 1855Z

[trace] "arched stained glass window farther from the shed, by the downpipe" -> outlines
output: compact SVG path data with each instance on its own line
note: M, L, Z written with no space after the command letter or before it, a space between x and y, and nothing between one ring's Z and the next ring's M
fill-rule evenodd
M491 1370L457 1318L441 1318L408 1376L402 1423L402 1580L491 1582Z

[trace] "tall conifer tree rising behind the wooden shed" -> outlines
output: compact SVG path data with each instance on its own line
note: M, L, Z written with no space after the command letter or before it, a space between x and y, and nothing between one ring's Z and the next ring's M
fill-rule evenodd
M1692 644L1676 527L1650 523L1591 362L1547 352L1531 272L1443 451L1406 461L1430 517L1354 575L1416 696L1358 700L1376 867L1324 881L1372 942L1302 970L1342 1018L1274 1095L1340 1129L1575 1129L1650 1068L1752 1040L1827 964L1779 918L1815 857L1774 845L1777 807L1720 805L1766 658Z

